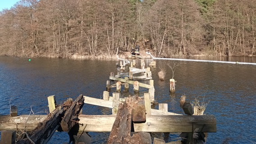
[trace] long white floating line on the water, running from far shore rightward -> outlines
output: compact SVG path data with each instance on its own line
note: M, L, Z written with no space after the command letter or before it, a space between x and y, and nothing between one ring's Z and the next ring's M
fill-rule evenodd
M150 54L150 52L146 52ZM153 59L164 59L164 60L179 60L179 61L192 61L192 62L210 62L210 63L231 63L231 64L251 64L256 65L256 63L243 63L243 62L225 62L225 61L215 61L215 60L196 60L196 59L180 59L180 58L155 58L151 55Z

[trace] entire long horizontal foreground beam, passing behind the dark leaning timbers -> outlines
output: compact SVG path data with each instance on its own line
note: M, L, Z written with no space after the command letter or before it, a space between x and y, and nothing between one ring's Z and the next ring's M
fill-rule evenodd
M151 112L159 110L151 109ZM24 128L24 122L28 115L18 117L0 116L0 130L16 130ZM87 124L85 131L107 132L111 131L116 115L79 115L79 123ZM46 115L31 115L26 123L26 130L31 131L37 123L46 118ZM150 126L147 125L150 122ZM193 124L193 126L192 126ZM202 132L216 132L216 118L212 115L185 116L185 115L151 115L146 116L145 123L134 123L135 132L192 132L192 127ZM79 131L83 130L80 126Z

